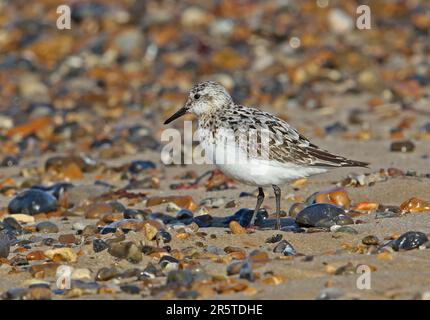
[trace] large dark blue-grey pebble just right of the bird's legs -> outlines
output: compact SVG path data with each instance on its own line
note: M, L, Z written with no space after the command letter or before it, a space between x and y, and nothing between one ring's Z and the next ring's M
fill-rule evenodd
M303 227L330 228L333 225L353 224L354 221L345 215L345 211L335 205L317 203L299 212L296 222Z

